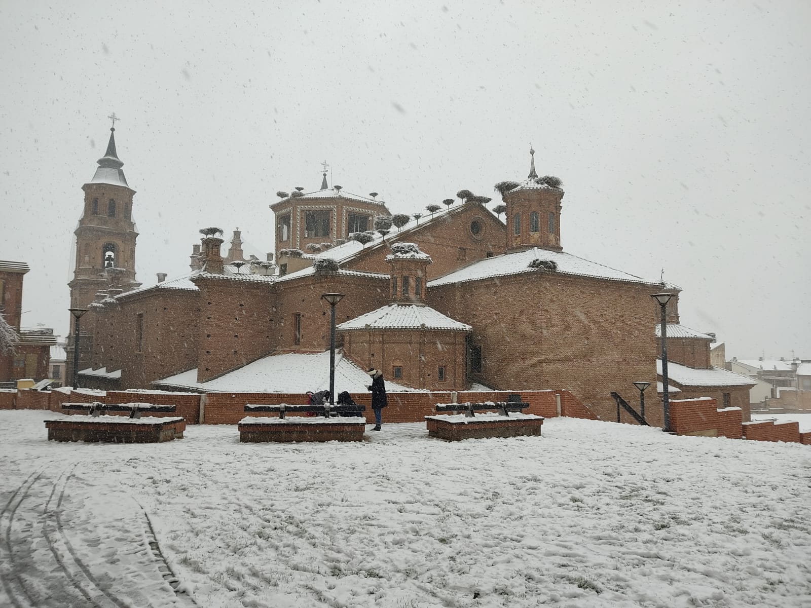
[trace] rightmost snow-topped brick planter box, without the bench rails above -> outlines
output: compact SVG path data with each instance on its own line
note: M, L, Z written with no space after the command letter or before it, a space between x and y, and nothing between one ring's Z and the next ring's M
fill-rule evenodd
M459 441L461 439L485 439L487 437L540 436L543 417L533 414L515 414L510 417L496 414L464 414L449 416L426 416L425 425L430 437Z

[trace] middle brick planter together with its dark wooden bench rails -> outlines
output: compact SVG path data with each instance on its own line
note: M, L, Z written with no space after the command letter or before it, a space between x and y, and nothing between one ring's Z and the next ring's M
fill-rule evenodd
M366 418L364 405L246 405L246 413L278 413L278 417L247 416L239 421L239 441L290 443L323 441L363 441ZM292 416L287 413L319 413L318 417ZM341 414L354 414L341 417ZM337 417L336 417L337 416Z

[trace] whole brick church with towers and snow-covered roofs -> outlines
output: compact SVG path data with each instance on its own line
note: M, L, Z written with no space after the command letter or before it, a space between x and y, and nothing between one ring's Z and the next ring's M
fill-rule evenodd
M665 291L674 294L671 398L711 396L749 419L752 383L710 365L714 336L680 324L676 285L564 251L564 191L539 177L534 156L526 178L496 184L503 206L493 210L460 191L461 202L392 216L375 193L330 188L325 178L315 191L280 191L268 259L245 259L238 231L223 255L221 232L208 229L188 275L147 286L135 280L135 191L113 132L98 164L83 186L69 284L71 306L89 309L83 386L305 392L328 375L330 305L321 296L341 293L337 389L363 391L364 370L375 367L390 391L568 389L611 419L611 392L632 400L634 381L661 380L650 296ZM650 417L661 423L652 397Z

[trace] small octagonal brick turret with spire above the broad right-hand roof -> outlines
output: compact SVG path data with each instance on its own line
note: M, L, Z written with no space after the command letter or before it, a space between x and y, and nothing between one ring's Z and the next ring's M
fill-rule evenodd
M562 251L560 246L560 180L535 173L535 151L530 149L530 174L512 190L504 191L507 205L506 250L540 247ZM517 182L512 182L516 184Z

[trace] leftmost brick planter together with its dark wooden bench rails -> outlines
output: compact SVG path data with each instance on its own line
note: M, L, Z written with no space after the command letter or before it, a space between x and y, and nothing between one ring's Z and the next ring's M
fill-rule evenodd
M169 413L174 405L147 403L105 404L63 403L62 410L83 412L62 420L47 420L48 439L54 441L84 441L88 443L162 443L182 438L186 421L182 417L141 418L142 412ZM129 413L129 417L108 413Z

